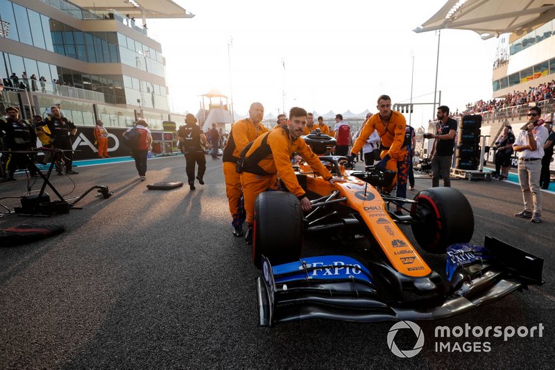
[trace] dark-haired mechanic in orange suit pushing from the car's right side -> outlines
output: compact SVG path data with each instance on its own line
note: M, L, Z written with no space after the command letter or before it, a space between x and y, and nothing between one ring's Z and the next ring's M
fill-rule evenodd
M391 169L397 172L398 184L396 196L399 198L407 198L407 175L409 174L409 151L404 143L404 133L407 127L407 121L404 116L395 110L391 110L391 98L388 95L381 95L377 99L378 113L368 118L362 131L357 137L355 145L352 146L349 159L352 161L357 158L357 154L362 149L368 137L377 131L382 141L382 160L377 162L375 168L384 171ZM384 189L390 192L393 184L397 179L393 180L391 187ZM397 205L395 215L402 215L402 204Z

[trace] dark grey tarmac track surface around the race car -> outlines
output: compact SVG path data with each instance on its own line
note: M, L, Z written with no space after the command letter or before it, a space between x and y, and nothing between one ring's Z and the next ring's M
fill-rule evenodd
M498 237L545 259L545 284L450 319L418 321L422 351L398 358L386 337L393 323L312 320L276 328L257 325L250 250L231 235L221 161L207 156L206 185L169 191L146 184L185 179L182 156L148 161L146 182L132 162L79 167L78 196L108 185L110 199L94 192L67 215L0 218L0 228L57 224L65 233L17 247L0 247L0 368L3 369L548 369L555 327L555 196L544 193L543 222L513 217L522 210L520 187L493 180L453 180L472 204L473 244ZM21 196L24 176L0 184L0 197ZM73 184L53 176L62 194ZM417 178L417 190L431 185ZM38 190L38 185L33 190ZM47 190L49 191L49 190ZM53 192L49 191L53 198ZM416 192L409 192L409 197ZM11 210L17 199L0 203ZM411 230L404 229L409 239ZM315 251L316 240L307 246ZM414 243L416 245L416 242ZM303 251L303 253L307 253ZM420 251L420 249L419 249ZM436 271L442 255L420 251ZM434 337L436 326L538 326L543 337ZM416 337L400 330L395 343L412 349ZM481 351L447 353L438 342ZM472 344L478 342L478 344ZM490 350L484 352L484 342ZM468 346L468 344L466 344ZM476 347L478 346L478 347Z

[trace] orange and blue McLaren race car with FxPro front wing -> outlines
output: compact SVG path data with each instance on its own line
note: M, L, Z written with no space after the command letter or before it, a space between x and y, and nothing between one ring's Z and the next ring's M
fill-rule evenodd
M333 144L321 133L304 139L318 155ZM384 192L393 171L349 171L345 157L320 158L346 182L331 185L309 166L298 165L298 181L312 203L308 214L288 192L263 192L255 201L253 262L262 269L257 278L261 326L315 318L440 319L542 283L542 259L491 237L484 246L468 244L474 216L458 190L436 187L399 199ZM398 204L409 214L389 211ZM446 253L445 276L428 266L400 224L410 225L425 252ZM332 240L322 249L332 244L339 255L301 257L303 239L310 235Z

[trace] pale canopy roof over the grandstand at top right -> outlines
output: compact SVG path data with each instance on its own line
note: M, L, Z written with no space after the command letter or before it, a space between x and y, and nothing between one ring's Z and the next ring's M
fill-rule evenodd
M470 30L487 40L502 33L526 33L555 17L553 0L448 0L413 31Z

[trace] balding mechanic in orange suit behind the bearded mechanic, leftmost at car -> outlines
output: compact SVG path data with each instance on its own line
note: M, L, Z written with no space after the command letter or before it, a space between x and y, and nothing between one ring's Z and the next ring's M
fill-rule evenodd
M223 149L223 176L225 178L225 193L232 217L233 235L243 235L243 221L245 221L244 205L241 202L241 178L237 173L237 160L239 153L260 135L267 133L268 128L262 124L264 106L261 103L250 104L248 118L240 119L231 126L228 143Z

